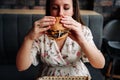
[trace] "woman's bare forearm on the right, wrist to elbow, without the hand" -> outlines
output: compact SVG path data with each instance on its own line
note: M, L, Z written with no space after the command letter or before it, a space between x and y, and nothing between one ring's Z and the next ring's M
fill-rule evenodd
M105 65L105 59L103 54L94 46L86 40L79 42L82 51L85 53L91 65L95 68L103 68Z

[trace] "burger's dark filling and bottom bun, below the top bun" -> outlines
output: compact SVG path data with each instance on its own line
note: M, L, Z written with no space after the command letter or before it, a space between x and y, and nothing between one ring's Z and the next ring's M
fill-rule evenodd
M60 38L63 35L67 34L68 32L69 32L69 30L48 30L47 31L48 36L52 37L54 39Z

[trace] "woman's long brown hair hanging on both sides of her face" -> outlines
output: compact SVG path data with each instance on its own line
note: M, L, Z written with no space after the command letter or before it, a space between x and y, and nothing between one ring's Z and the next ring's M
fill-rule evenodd
M72 1L73 1L73 11L74 11L72 18L84 25L80 15L79 1L78 0L72 0ZM51 0L46 0L46 16L50 16L50 4L51 4Z

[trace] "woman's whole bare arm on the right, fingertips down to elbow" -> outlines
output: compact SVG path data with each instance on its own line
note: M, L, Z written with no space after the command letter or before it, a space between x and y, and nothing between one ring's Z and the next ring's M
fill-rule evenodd
M82 24L68 16L64 16L61 19L61 23L64 27L71 29L69 36L81 46L82 51L85 53L91 65L95 68L103 68L105 64L104 56L94 43L90 43L85 39Z

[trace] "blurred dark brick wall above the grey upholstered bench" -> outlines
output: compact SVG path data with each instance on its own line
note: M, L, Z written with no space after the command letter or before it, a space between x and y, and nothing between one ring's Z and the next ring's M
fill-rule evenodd
M79 0L80 8L104 16L104 24L120 18L120 0ZM0 0L0 9L45 9L46 0Z

